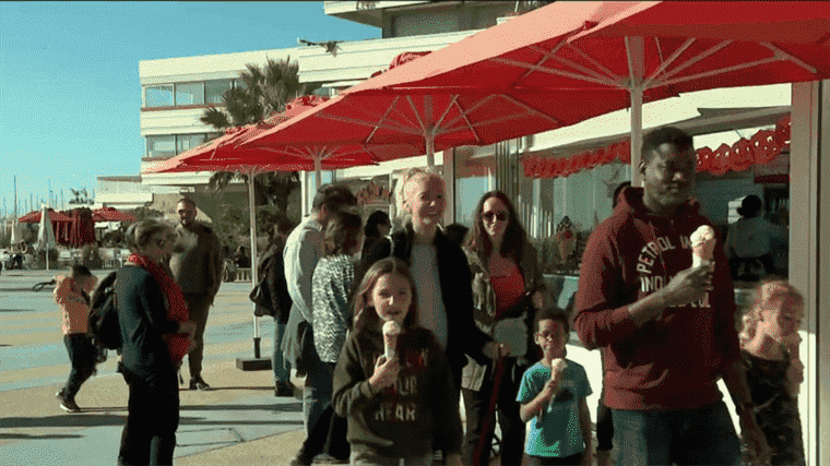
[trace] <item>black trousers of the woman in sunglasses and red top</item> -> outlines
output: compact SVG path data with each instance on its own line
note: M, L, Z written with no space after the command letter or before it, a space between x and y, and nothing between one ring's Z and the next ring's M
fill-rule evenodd
M466 413L466 432L464 433L463 463L469 465L488 465L493 435L496 430L496 413L488 413L490 396L495 389L493 378L494 367L487 368L481 391L462 389L464 395L464 409ZM519 465L522 462L524 447L524 422L519 417L519 403L515 394L519 393L519 383L522 377L521 368L517 367L515 358L505 359L505 373L498 386L499 427L501 428L501 464ZM485 431L485 423L487 425ZM475 463L473 459L478 458Z

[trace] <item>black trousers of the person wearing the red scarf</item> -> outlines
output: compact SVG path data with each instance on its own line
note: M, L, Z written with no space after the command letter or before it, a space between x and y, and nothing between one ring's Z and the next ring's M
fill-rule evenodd
M152 380L124 370L130 389L119 465L171 465L179 427L179 386L173 366Z

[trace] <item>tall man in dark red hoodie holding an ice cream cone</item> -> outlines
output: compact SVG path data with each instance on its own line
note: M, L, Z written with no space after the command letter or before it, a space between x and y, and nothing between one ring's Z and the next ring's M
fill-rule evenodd
M750 455L768 458L740 363L735 295L721 241L691 266L689 236L711 225L689 199L691 136L661 128L643 140L643 188L620 194L582 258L574 326L605 347L605 404L618 463L738 464L740 441L718 379L735 402Z

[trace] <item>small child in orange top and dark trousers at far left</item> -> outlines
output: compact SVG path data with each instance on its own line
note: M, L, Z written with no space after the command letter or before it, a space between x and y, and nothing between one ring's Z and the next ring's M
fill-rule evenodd
M62 311L63 344L67 346L72 369L67 384L55 396L60 408L67 413L78 413L75 395L81 385L95 373L95 347L86 333L90 320L90 292L97 278L83 265L73 265L69 275L55 277L52 295Z

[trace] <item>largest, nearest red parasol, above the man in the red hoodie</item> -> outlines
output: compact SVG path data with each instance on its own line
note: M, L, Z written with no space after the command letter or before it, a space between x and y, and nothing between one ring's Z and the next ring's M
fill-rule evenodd
M512 119L512 128L503 129L506 138L630 105L631 163L637 165L643 101L827 77L828 2L556 2L413 60L347 94L556 97L549 104L559 111L548 115L559 124L541 128L544 122L538 119ZM568 97L573 94L578 100ZM317 135L308 126L304 130Z

